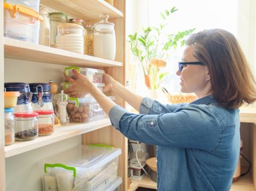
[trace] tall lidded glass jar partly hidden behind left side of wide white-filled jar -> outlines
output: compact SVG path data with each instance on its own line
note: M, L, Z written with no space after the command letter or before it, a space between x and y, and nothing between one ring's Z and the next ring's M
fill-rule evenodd
M56 47L57 26L67 22L67 14L55 12L49 13L49 17L51 23L51 47Z

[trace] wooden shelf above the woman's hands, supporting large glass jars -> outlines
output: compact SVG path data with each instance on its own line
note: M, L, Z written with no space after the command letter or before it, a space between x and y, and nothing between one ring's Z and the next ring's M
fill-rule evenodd
M76 65L80 67L116 67L123 65L122 62L69 52L7 37L4 38L4 53L5 58L60 65Z

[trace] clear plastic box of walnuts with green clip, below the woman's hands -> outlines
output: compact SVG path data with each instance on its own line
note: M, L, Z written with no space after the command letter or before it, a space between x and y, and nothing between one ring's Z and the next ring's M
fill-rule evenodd
M116 97L108 97L115 100ZM67 114L70 122L87 123L106 118L104 110L93 97L70 98L67 104Z

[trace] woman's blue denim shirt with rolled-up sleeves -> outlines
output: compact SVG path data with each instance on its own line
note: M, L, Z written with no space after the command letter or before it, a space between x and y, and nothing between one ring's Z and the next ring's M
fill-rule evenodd
M145 97L140 115L120 106L112 125L129 139L157 146L158 190L229 190L240 151L239 109L213 96L163 105Z

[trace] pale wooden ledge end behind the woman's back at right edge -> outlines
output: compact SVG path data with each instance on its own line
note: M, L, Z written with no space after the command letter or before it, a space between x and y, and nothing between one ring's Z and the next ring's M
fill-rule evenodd
M256 123L256 106L242 106L240 108L240 121L243 123Z

